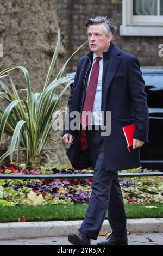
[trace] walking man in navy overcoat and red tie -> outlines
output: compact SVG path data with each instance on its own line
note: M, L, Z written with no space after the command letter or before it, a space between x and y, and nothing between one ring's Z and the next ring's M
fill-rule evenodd
M112 43L110 19L97 16L87 20L86 27L91 51L77 64L62 140L70 144L66 154L72 167L93 166L94 172L84 221L68 240L74 245L90 245L108 210L112 233L98 245L127 245L118 171L140 167L139 148L148 142L145 82L139 60ZM73 112L79 113L75 122ZM122 128L132 124L133 145L127 147Z

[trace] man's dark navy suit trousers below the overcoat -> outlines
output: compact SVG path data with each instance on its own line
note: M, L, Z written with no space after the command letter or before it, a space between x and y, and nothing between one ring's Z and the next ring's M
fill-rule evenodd
M92 131L86 131L87 144L95 169L89 206L80 229L90 235L91 239L96 240L107 210L108 221L115 236L126 234L126 214L118 172L105 170L103 137L101 130L95 129L93 126Z

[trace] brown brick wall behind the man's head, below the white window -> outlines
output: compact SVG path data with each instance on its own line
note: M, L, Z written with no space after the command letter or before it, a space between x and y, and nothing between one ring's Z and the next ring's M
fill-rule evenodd
M137 56L141 66L163 66L163 57L158 56L158 46L163 36L120 36L122 24L122 1L120 0L57 0L57 13L67 58L87 40L86 20L97 15L111 17L115 25L113 42L122 50ZM151 31L152 33L152 31ZM67 71L75 71L79 57L89 51L84 46L70 61Z

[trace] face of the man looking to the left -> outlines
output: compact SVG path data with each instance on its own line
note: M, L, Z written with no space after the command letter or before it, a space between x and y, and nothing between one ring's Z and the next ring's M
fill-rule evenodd
M106 35L104 24L90 25L87 29L90 50L101 55L110 45L112 34Z

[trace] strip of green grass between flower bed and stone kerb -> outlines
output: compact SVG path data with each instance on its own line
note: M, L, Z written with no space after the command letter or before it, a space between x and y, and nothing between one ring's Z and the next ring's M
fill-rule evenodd
M83 220L88 205L0 206L0 222L17 222L24 216L27 221ZM161 218L163 204L125 204L127 218ZM142 208L156 206L157 208ZM106 215L107 216L107 215Z

